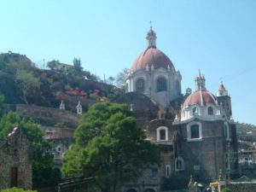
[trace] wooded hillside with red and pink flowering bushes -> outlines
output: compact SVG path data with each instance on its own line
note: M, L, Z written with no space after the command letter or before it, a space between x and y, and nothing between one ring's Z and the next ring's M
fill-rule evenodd
M26 55L0 54L0 92L5 102L58 108L64 100L66 109L74 112L79 101L86 110L91 103L111 101L122 94L122 90L84 71L79 60L73 65L49 61L48 67L35 67Z

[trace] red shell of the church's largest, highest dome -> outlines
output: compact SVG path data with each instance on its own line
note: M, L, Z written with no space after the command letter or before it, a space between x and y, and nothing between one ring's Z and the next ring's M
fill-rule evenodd
M146 69L146 67L156 68L173 68L172 61L162 52L155 47L148 47L143 53L137 56L137 59L133 62L131 70L133 72L139 69Z

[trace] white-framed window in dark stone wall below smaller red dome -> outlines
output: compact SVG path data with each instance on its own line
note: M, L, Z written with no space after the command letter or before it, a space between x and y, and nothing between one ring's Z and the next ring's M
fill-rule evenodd
M192 122L187 125L187 137L189 142L201 141L202 128L200 122Z

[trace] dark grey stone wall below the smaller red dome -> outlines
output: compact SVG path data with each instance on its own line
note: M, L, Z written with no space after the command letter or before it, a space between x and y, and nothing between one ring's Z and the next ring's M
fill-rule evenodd
M227 170L227 141L224 137L224 124L222 120L219 121L202 121L202 138L198 141L187 140L187 125L176 125L180 132L180 142L178 144L177 155L184 160L185 171L183 177L189 175L198 176L204 182L210 182L218 178L219 170L222 170L225 175ZM179 126L179 127L178 127ZM234 162L233 155L236 154L236 137L231 137L230 141L230 168L235 172L237 167Z

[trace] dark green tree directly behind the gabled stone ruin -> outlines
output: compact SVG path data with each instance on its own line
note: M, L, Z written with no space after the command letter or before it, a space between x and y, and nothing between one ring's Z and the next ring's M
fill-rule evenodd
M44 140L44 132L32 119L21 119L15 112L3 115L0 120L0 141L19 126L32 144L32 181L50 181L53 176L54 160L50 154L51 143Z

